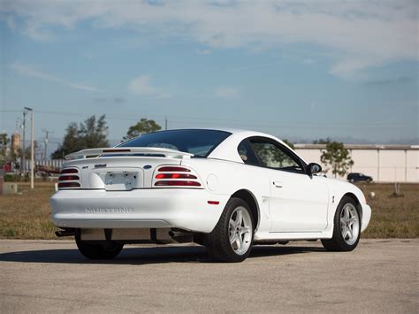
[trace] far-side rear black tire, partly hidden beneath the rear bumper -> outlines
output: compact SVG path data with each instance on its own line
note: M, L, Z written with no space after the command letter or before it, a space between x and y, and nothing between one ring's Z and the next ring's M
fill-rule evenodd
M112 259L121 252L124 244L108 242L103 244L91 244L80 239L80 234L76 234L76 244L81 255L89 259Z

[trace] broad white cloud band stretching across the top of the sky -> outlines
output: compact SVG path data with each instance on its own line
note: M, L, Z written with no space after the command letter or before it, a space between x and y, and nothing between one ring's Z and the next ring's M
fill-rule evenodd
M81 22L182 37L211 49L249 50L311 43L331 73L351 77L371 66L418 60L418 2L400 1L83 1L4 0L0 14L37 41ZM18 25L19 20L19 25Z

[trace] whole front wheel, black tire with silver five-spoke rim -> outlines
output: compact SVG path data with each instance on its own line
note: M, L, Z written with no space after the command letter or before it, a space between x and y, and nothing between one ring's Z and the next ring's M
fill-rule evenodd
M344 196L334 217L333 236L323 239L324 249L351 251L356 248L361 235L361 219L354 199Z

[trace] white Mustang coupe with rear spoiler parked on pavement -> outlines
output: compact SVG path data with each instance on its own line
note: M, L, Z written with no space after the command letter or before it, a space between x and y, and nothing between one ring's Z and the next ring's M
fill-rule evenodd
M224 262L243 261L253 244L293 240L349 251L371 217L359 188L319 175L320 165L269 134L162 131L66 159L52 221L93 259L149 242L196 242Z

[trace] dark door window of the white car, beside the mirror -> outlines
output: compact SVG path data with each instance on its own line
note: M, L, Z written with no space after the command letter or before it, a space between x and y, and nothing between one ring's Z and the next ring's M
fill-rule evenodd
M286 149L266 139L251 139L250 144L263 167L290 171L303 172L301 161L293 157Z

